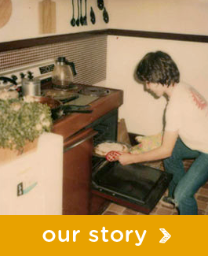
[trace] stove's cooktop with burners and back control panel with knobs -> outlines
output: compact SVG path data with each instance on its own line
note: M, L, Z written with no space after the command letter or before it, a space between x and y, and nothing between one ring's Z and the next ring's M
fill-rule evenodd
M76 96L71 102L64 103L66 105L86 106L102 96L111 94L111 90L109 89L87 86L80 83L71 83L64 89L53 88L51 76L54 66L55 60L49 59L2 71L0 72L0 90L20 90L22 79L33 76L33 78L41 81L42 96L49 96L58 100Z

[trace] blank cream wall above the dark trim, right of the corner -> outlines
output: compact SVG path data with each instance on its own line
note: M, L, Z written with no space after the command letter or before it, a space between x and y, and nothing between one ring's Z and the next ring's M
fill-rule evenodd
M108 0L110 28L208 35L207 0Z

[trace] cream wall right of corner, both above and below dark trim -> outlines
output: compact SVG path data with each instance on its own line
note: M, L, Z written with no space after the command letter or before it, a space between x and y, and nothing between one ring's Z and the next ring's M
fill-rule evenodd
M208 35L208 0L117 0L108 2L108 9L111 28ZM151 135L162 130L165 98L153 98L133 79L140 59L155 50L170 54L181 80L208 99L208 43L108 36L106 84L124 91L119 117L126 119L129 132Z

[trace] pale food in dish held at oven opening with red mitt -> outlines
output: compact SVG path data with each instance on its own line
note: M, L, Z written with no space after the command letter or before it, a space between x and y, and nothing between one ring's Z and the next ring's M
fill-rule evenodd
M119 151L119 152L128 153L129 148L122 143L109 143L109 142L100 143L94 148L94 153L103 157L105 157L106 154L108 154L108 152L110 151Z

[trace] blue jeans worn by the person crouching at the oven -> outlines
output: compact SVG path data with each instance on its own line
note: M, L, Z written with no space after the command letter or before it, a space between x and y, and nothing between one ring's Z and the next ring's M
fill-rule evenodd
M192 166L185 172L184 159L195 158ZM181 215L197 215L197 203L194 195L208 180L208 154L191 150L177 139L170 158L166 158L164 166L167 173L173 174L169 185L169 196L177 206Z

